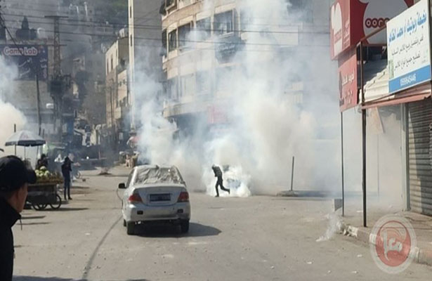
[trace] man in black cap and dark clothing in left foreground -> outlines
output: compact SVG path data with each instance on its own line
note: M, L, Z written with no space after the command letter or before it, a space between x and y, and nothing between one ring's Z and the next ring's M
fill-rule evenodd
M27 183L36 183L36 174L15 156L0 158L0 280L13 276L13 225L21 218L27 197Z

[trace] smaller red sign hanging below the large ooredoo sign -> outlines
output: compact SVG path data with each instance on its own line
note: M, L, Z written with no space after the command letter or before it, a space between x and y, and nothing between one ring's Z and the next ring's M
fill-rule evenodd
M339 58L339 108L341 112L358 104L357 51Z

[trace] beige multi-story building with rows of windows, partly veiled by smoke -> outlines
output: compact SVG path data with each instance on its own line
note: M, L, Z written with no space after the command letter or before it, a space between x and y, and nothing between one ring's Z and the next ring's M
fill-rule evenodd
M166 78L163 112L180 128L186 129L197 119L207 119L209 125L227 122L224 101L230 96L231 84L227 73L240 70L242 62L235 59L235 53L258 31L270 38L280 60L289 61L293 53L308 60L309 55L320 53L319 46L328 52L329 13L323 11L329 11L330 0L287 1L287 14L292 18L284 20L283 26L277 22L267 25L267 30L263 24L252 23L247 5L247 1L234 0L166 0L161 8ZM261 19L267 24L271 20ZM264 48L260 42L253 44ZM294 103L307 100L306 88L314 86L310 83L313 75L304 76L293 79L285 89ZM308 86L303 84L305 79Z

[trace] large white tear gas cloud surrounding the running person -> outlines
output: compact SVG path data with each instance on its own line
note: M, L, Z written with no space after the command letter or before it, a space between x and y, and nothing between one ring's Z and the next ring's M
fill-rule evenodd
M213 2L205 1L205 5L211 7ZM222 108L228 122L213 126L210 133L199 124L194 133L174 139L176 124L161 114L162 86L140 72L135 89L143 102L139 107L143 155L153 163L178 165L183 174L195 178L193 189L211 195L216 193L212 164L225 166L224 183L236 190L231 196L275 194L289 186L293 156L295 188L339 187L337 88L336 79L327 77L329 72L336 75L336 65L327 55L327 36L314 37L313 46L299 47L298 34L267 32L269 25L263 25L263 19L271 21L275 31L293 28L294 15L285 0L266 1L266 5L247 1L237 6L249 18L242 28L258 32L247 33L246 44L232 58L233 66L216 70L215 106ZM191 32L190 41L200 37L202 32ZM214 59L209 46L198 45L192 48L203 48L196 51L199 60ZM325 47L316 49L315 45ZM296 85L303 96L296 96ZM299 96L303 103L295 102ZM218 103L223 99L228 102ZM322 131L329 137L320 138Z

